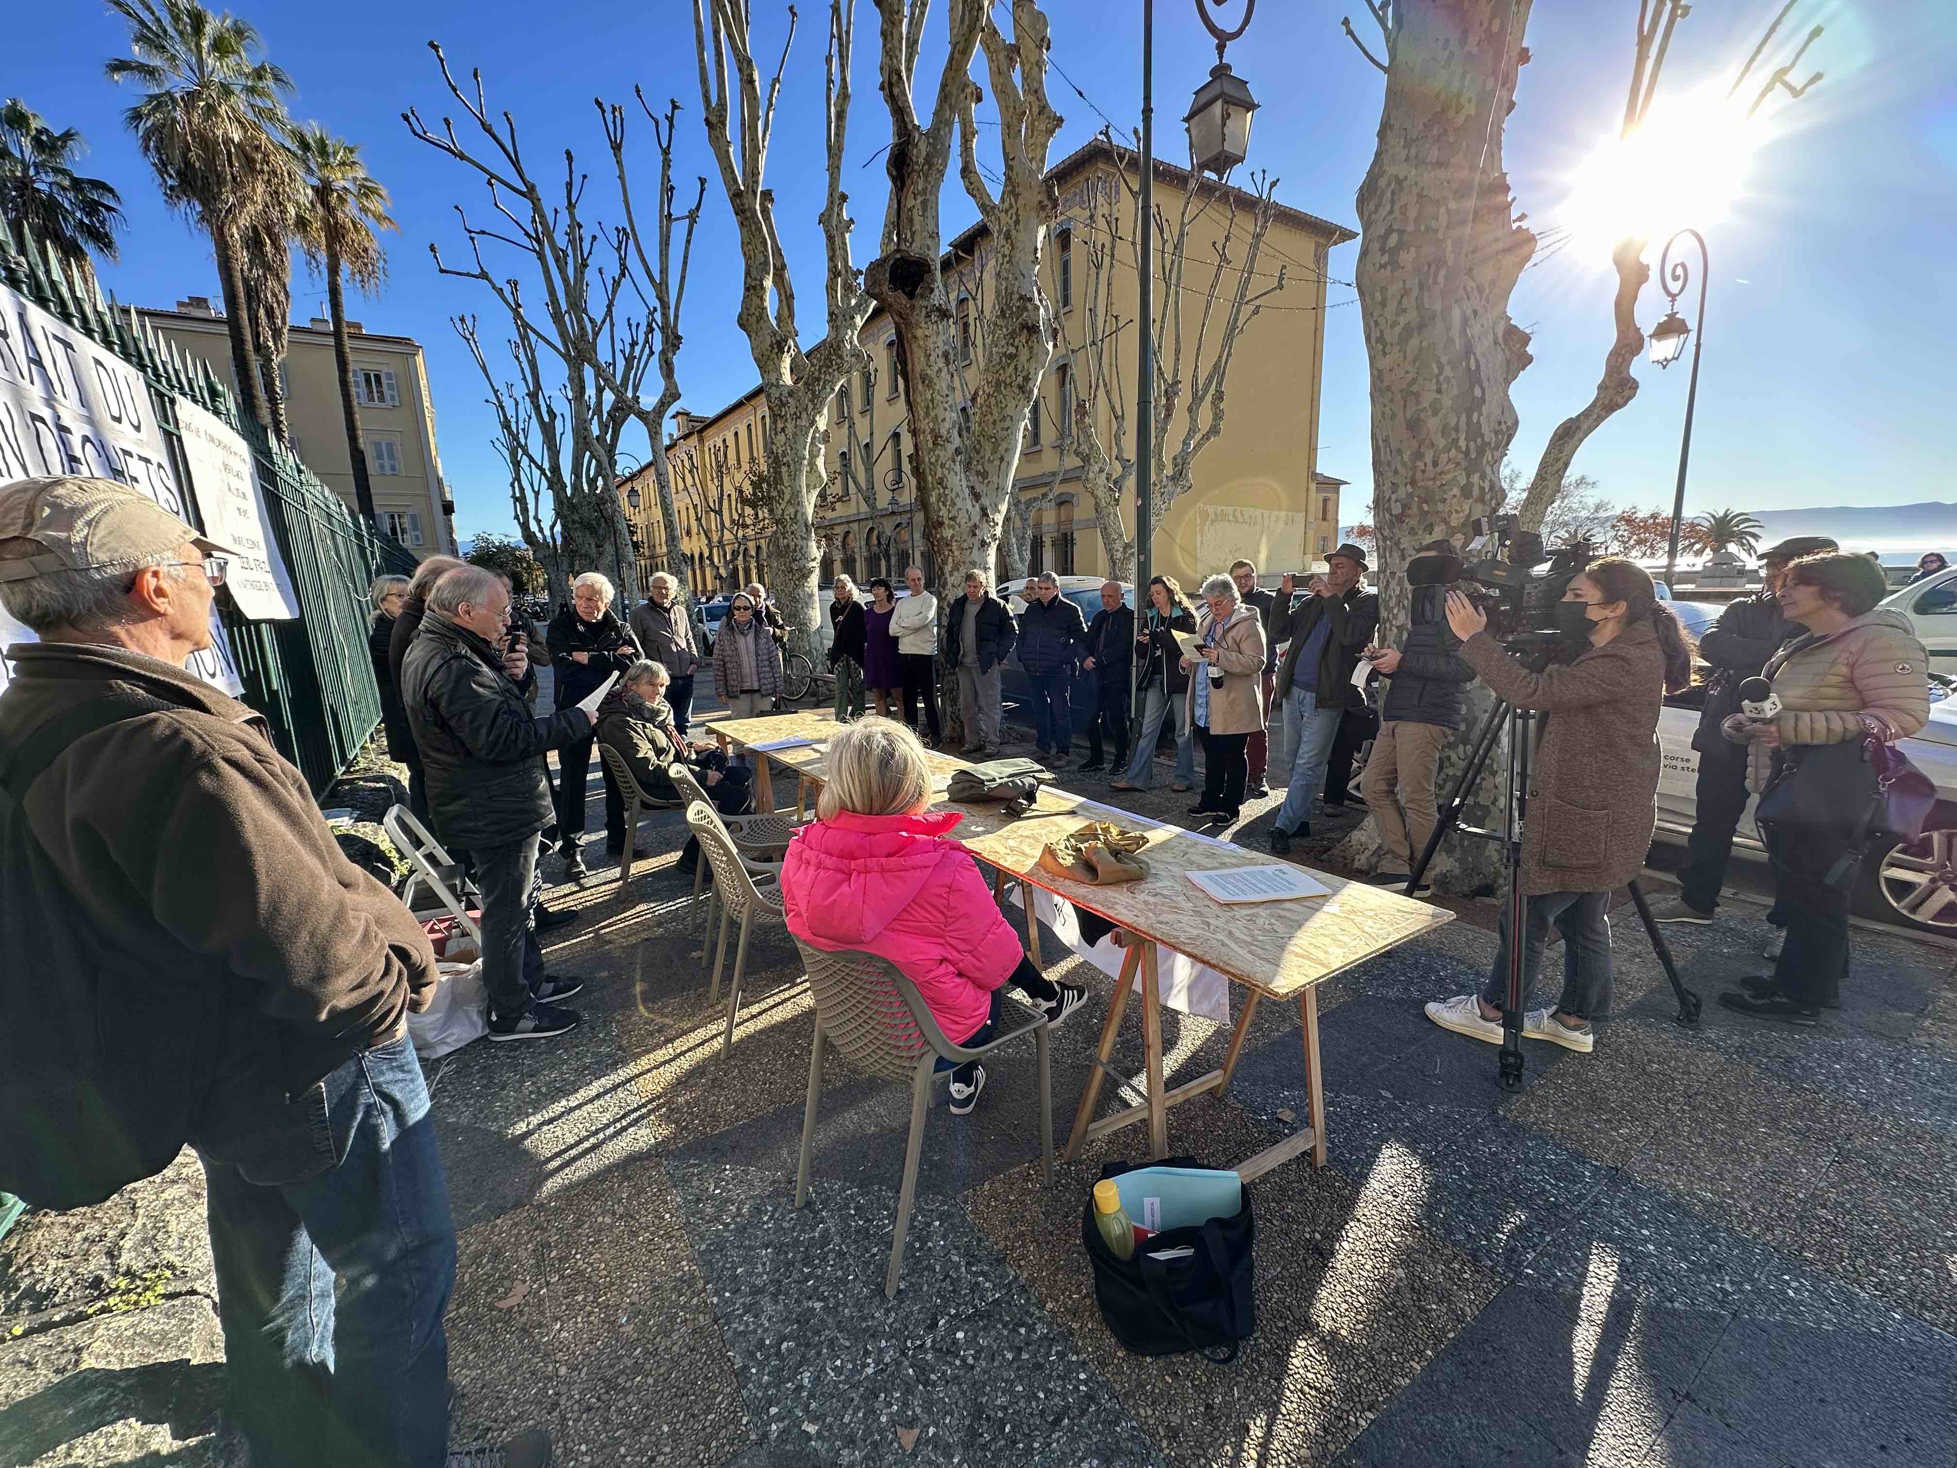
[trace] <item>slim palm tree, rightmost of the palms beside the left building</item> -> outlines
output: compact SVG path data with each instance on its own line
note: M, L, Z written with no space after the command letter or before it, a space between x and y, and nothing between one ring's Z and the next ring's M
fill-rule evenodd
M372 292L387 276L387 256L374 239L376 229L393 229L387 217L387 190L366 164L360 149L333 137L319 123L292 131L290 143L305 180L305 209L299 213L299 249L327 278L327 309L333 315L333 364L341 374L341 411L346 417L346 454L354 466L354 505L374 528L374 483L368 480L366 448L360 442L360 407L354 401L354 360L346 344L346 298L341 276L362 292Z

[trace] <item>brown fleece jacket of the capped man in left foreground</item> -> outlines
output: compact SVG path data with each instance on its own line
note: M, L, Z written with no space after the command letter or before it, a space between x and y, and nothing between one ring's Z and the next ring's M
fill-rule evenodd
M8 744L112 683L178 705L78 738L27 791L33 842L10 846L0 902L33 902L53 877L94 928L92 951L33 955L49 975L207 979L270 1022L288 1092L397 1039L429 1006L427 934L341 853L260 714L123 648L23 644L8 658Z

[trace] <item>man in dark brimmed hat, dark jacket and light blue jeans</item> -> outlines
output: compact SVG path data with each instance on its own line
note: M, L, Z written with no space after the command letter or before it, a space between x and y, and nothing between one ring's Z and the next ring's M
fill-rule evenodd
M1278 667L1278 703L1292 726L1292 787L1270 828L1270 849L1288 855L1294 836L1311 834L1311 803L1325 785L1325 765L1339 738L1339 716L1364 703L1352 687L1360 650L1380 628L1380 597L1366 589L1366 552L1346 542L1325 558L1325 575L1311 577L1297 607L1297 577L1278 583L1278 607L1268 620L1272 642L1292 646Z

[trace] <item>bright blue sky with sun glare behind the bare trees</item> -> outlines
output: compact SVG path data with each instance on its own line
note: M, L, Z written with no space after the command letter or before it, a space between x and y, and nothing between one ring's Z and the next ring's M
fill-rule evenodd
M448 325L458 311L478 311L487 333L493 301L472 282L438 278L427 252L431 241L458 249L454 204L478 215L485 200L460 164L411 139L399 119L409 106L431 121L454 112L444 108L452 100L427 41L438 39L464 74L483 69L491 106L515 112L540 172L575 147L595 174L593 192L609 168L593 96L628 100L634 82L654 102L679 96L675 168L681 178L710 178L683 323L687 405L712 411L751 386L751 360L734 327L740 256L699 127L689 4L393 0L348 10L243 0L235 8L294 74L294 114L362 143L372 172L393 192L401 233L387 237L389 282L376 299L352 298L348 309L370 329L417 337L427 348L464 538L509 530L511 513L479 380ZM1769 0L1697 4L1673 45L1667 94L1728 72L1775 8ZM818 0L800 10L769 182L808 311L820 301L824 37ZM941 25L943 6L935 10ZM1117 123L1137 117L1141 25L1137 0L1049 0L1047 12L1055 63L1086 94L1053 74L1055 106L1067 115L1053 151L1059 159L1102 127L1102 112ZM1182 145L1176 119L1211 53L1192 0L1161 0L1157 12L1157 131L1159 149L1172 153ZM1607 12L1611 23L1599 23ZM1532 63L1507 129L1511 184L1534 225L1556 223L1571 207L1579 164L1622 112L1634 12L1630 0L1534 4ZM1352 194L1372 157L1384 78L1344 39L1341 14L1343 0L1266 2L1231 63L1264 104L1252 166L1282 178L1284 202L1356 223ZM765 35L759 49L773 55L785 6L759 0L755 16ZM1826 20L1828 33L1808 61L1828 76L1781 112L1742 198L1708 229L1710 331L1687 509L1957 499L1957 262L1949 247L1957 239L1957 12L1947 0L1804 0L1797 16ZM847 188L859 266L877 252L885 196L883 164L873 161L888 135L875 94L875 8L857 0ZM94 0L57 0L22 6L8 31L0 94L23 96L57 127L80 127L92 143L86 170L123 192L123 260L104 272L117 298L145 305L215 298L207 245L162 207L121 123L129 96L102 76L102 61L123 49L121 22ZM926 47L926 74L935 45L933 37ZM650 192L650 129L640 123L638 135ZM969 217L953 178L947 235ZM1354 243L1333 252L1337 280L1350 282L1356 251ZM323 315L323 296L301 270L296 317ZM1321 468L1352 482L1346 521L1370 495L1366 354L1352 299L1348 286L1333 286L1319 446ZM1521 464L1532 466L1554 425L1587 401L1609 346L1609 299L1601 251L1571 247L1523 276L1513 313L1534 331L1536 362L1515 386ZM1660 313L1654 286L1640 321L1650 327ZM1685 368L1658 374L1640 364L1638 376L1638 399L1585 444L1575 470L1595 476L1613 501L1650 507L1671 495ZM640 442L628 448L644 452Z

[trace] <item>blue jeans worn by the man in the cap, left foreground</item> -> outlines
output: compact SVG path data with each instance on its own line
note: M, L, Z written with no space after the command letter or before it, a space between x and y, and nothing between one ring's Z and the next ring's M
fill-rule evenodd
M456 1229L409 1039L274 1098L249 1153L231 1163L198 1141L252 1464L440 1468Z

